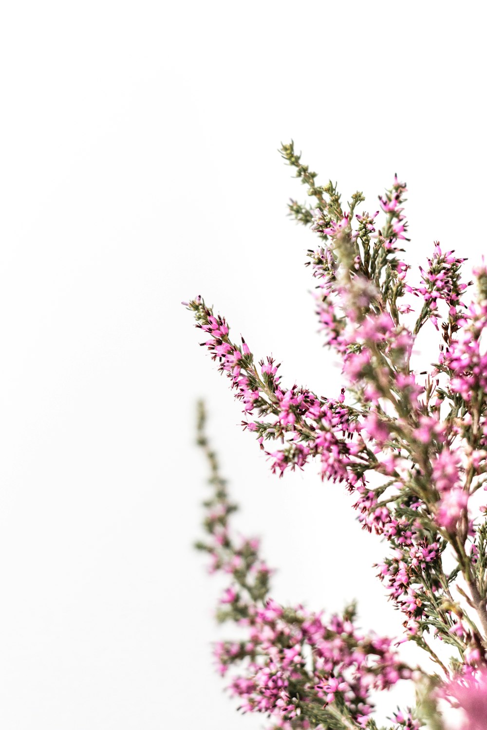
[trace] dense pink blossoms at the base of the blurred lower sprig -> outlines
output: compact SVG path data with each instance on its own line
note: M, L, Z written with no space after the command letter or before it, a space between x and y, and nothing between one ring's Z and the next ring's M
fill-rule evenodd
M270 610L269 610L270 605ZM312 714L307 703L326 708L340 694L359 726L365 726L373 705L373 690L386 690L399 678L410 677L391 640L364 636L349 619L323 616L303 607L283 610L269 601L262 609L249 608L247 642L239 645L239 658L248 658L245 674L231 682L231 692L244 711L264 712L291 720ZM221 672L233 663L231 648L217 647ZM312 657L312 663L307 657ZM300 712L301 711L301 712Z

